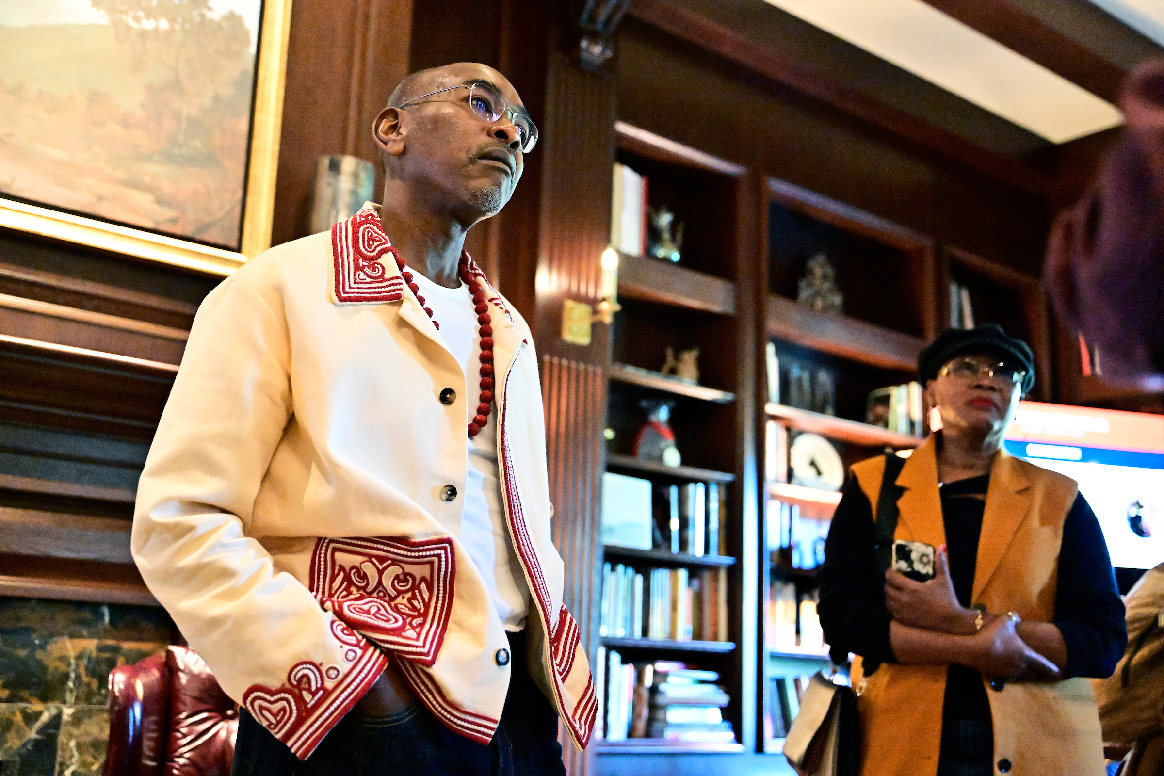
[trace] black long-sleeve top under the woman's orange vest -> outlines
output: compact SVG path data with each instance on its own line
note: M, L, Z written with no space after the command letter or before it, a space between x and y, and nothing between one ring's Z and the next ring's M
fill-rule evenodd
M989 475L982 475L941 489L950 577L963 606L971 604L988 482ZM885 605L885 577L878 570L874 543L872 506L857 478L850 477L825 543L819 574L821 625L835 649L893 663L892 618ZM1067 647L1066 677L1106 677L1115 670L1128 641L1123 614L1099 521L1086 499L1077 494L1063 525L1053 619ZM951 672L956 686L947 686L947 697L958 688L968 691L977 686L981 691L978 671L966 669L966 675L960 669L956 667ZM978 691L973 692L974 700ZM965 700L973 703L971 698ZM985 696L980 700L985 703Z

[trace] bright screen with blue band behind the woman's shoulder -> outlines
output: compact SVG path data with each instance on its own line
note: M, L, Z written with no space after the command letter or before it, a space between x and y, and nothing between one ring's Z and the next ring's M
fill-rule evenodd
M1006 448L1079 483L1112 565L1164 562L1164 415L1023 401Z

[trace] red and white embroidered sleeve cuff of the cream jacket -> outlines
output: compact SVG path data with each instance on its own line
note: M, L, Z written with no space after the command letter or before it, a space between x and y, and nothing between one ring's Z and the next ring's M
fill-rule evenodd
M346 641L355 642L345 655L348 665L325 667L300 661L288 671L283 686L253 684L242 696L242 705L250 716L300 760L314 752L388 665L388 655L359 634L352 635Z

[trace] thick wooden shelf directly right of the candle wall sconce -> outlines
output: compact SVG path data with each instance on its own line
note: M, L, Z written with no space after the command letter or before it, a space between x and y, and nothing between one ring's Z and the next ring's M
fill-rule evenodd
M736 314L736 287L730 282L643 256L618 255L618 293L721 315Z

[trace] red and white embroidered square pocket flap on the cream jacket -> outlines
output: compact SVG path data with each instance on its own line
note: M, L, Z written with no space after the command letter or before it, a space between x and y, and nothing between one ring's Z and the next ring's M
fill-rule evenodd
M319 539L310 574L312 593L346 625L421 665L436 662L453 610L450 537Z

